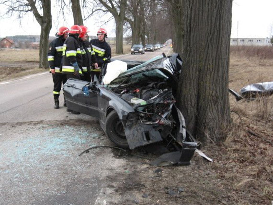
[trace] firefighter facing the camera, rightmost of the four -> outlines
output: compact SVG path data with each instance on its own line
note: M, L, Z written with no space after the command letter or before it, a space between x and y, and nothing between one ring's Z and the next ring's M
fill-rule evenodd
M91 70L91 78L94 81L94 76L97 76L99 79L100 71L105 60L110 57L111 58L111 47L108 43L106 43L105 38L107 38L107 31L104 28L100 28L97 32L97 39L92 39L90 44L93 47L93 51L95 52L96 60L98 63L98 68Z

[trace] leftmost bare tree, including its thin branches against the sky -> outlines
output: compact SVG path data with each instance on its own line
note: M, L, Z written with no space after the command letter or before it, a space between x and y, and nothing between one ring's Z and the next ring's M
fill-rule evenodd
M17 12L18 18L21 19L26 12L32 11L35 19L41 26L40 32L40 50L39 50L39 67L48 68L48 39L52 27L51 20L51 1L50 0L26 0L26 1L1 1L8 7L7 15L12 15ZM43 13L40 15L39 11Z

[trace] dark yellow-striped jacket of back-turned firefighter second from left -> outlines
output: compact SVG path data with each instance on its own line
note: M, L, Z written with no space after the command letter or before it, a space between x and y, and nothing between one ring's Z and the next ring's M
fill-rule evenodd
M79 67L82 69L82 54L79 39L77 36L70 34L64 41L62 72L66 74L74 73L72 64L75 62L78 62ZM81 69L79 70L80 74L82 74Z

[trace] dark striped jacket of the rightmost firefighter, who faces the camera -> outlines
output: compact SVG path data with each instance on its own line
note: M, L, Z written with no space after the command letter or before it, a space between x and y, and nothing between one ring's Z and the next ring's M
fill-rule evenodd
M106 41L101 42L99 39L92 39L90 43L93 47L93 51L95 52L98 66L101 67L108 57L112 57L111 47L108 43L106 43ZM94 69L92 71L100 71L100 69Z

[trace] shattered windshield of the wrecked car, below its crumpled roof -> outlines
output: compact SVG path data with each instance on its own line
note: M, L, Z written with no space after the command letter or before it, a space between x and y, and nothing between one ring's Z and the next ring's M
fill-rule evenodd
M124 76L121 78L117 78L113 80L110 84L108 84L109 88L115 88L119 86L120 84L129 85L129 84L134 84L138 83L141 81L157 81L159 79L168 79L168 76L166 76L162 71L158 69L153 69L153 70L147 70L143 71L141 73L136 73L131 76Z

